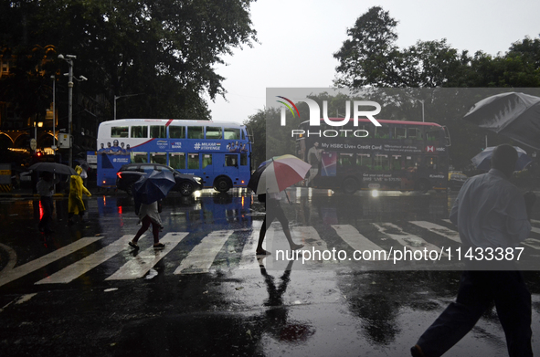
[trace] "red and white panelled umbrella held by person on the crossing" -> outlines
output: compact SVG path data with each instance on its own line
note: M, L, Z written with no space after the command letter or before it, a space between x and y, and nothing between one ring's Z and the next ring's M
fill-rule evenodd
M261 163L249 179L255 194L279 193L302 181L312 165L293 155L275 156Z

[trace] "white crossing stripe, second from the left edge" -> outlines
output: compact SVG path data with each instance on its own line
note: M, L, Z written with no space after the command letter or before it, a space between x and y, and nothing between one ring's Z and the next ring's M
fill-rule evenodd
M66 268L59 270L50 277L37 281L36 284L67 284L70 281L79 278L82 274L96 268L101 263L114 257L123 249L128 247L128 242L133 235L122 236L107 247L102 247L100 250L91 254L88 257L80 259L77 263L71 264Z

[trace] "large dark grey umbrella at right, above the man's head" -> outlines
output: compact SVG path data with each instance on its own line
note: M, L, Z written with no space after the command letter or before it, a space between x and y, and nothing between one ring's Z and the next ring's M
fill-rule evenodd
M540 97L497 94L474 104L463 119L540 150Z

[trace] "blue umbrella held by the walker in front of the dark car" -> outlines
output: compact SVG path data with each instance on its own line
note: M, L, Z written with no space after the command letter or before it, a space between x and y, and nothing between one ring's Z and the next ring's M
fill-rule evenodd
M175 184L173 173L154 170L133 184L133 198L144 205L150 205L155 201L164 199Z

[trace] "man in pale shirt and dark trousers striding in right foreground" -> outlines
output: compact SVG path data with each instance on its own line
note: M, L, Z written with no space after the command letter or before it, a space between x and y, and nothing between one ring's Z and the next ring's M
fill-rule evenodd
M522 194L508 179L514 172L517 152L499 145L492 155L489 173L471 177L461 187L450 211L450 221L458 226L461 251L481 248L518 247L527 238L535 194ZM514 251L514 257L517 251ZM490 265L487 260L466 260L455 302L420 336L411 348L415 357L440 356L461 340L484 311L495 303L506 336L510 356L532 356L531 294L514 261ZM474 352L471 352L473 354Z

